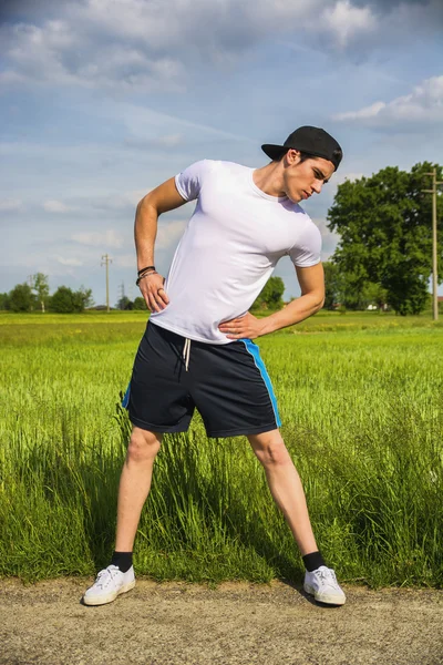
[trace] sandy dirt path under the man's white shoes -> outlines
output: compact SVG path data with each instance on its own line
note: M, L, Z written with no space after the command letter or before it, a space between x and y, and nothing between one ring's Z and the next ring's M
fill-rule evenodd
M0 663L9 665L440 665L442 591L346 587L343 607L303 592L137 581L115 603L80 603L89 580L0 581Z

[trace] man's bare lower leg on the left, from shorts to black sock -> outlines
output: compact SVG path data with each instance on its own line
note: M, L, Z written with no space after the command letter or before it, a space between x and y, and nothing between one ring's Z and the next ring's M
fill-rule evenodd
M162 434L134 427L120 478L116 552L132 552Z

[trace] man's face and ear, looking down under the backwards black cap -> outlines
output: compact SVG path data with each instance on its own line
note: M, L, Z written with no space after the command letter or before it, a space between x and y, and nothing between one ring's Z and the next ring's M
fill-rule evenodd
M321 187L334 172L332 162L323 157L312 157L300 162L300 153L289 150L284 172L285 194L293 202L306 201L312 194L320 194Z

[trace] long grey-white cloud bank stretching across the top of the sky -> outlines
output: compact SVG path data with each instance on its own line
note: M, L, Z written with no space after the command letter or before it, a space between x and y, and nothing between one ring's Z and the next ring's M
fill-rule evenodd
M71 0L51 13L2 27L0 83L178 92L196 71L190 61L230 68L264 40L295 31L342 50L378 23L356 0Z

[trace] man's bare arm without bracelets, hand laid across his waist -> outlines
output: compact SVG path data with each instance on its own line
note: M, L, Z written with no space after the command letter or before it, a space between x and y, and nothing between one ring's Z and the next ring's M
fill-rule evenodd
M224 321L219 325L219 330L228 339L241 339L247 337L254 339L261 335L268 335L280 328L293 326L303 319L316 314L324 303L324 273L323 266L317 264L310 268L299 268L296 266L297 278L301 288L301 296L292 300L280 311L258 319L251 314L243 317Z

